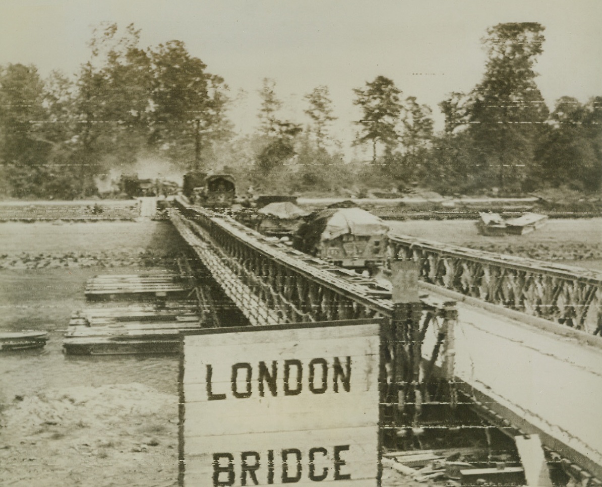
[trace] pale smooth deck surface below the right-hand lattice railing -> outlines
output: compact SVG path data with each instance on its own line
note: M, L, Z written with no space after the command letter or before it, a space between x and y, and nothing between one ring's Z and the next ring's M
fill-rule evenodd
M600 476L602 350L468 303L457 309L455 374L465 391L484 394L526 433L572 448Z

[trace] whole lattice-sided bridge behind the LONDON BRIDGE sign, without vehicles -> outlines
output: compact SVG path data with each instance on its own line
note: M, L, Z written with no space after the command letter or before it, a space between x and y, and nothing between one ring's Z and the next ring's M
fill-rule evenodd
M403 324L403 313L413 314L416 329L389 327L385 427L400 427L405 401L416 420L421 405L437 399L422 385L438 375L451 406L470 403L511 436L538 435L548 462L582 485L602 485L602 273L393 234L386 267L416 262L421 279L420 303L400 311L385 282L184 199L169 211L253 325L373 317Z

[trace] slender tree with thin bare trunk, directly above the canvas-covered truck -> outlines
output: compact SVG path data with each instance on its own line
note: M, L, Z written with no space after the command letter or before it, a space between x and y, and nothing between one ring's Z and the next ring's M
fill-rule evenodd
M363 134L354 144L372 143L372 163L376 164L376 144L381 143L391 152L397 146L399 132L397 123L402 113L401 91L393 81L385 76L377 76L374 81L366 82L365 88L354 88L356 99L353 101L362 109L362 119L355 122Z

